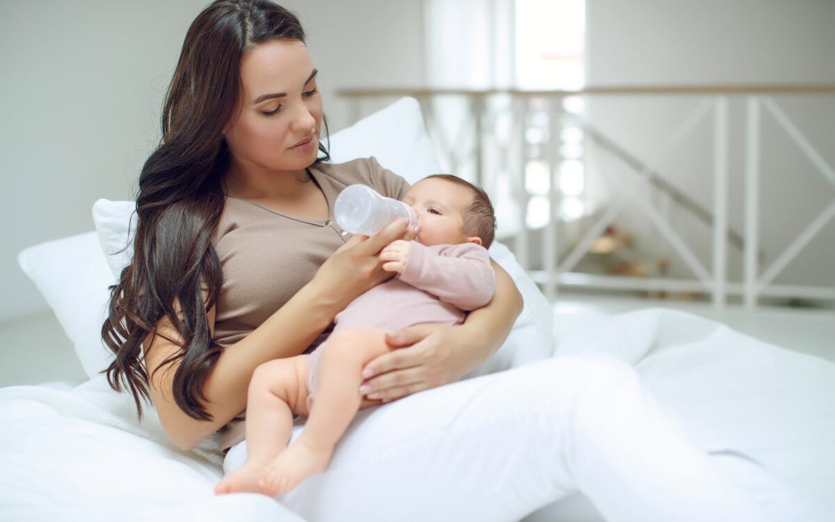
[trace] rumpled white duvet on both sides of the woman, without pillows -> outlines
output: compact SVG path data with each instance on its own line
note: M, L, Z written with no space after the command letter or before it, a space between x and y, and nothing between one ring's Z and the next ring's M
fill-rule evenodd
M635 364L694 441L772 512L835 519L835 364L682 312L555 325L554 357L602 351ZM263 495L215 496L213 441L175 449L145 411L139 425L133 398L104 375L77 388L0 388L0 519L301 520ZM565 504L541 513L571 519Z

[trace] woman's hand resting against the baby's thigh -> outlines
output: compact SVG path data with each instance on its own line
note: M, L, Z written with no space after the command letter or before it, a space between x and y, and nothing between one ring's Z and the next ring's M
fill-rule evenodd
M386 342L397 349L366 364L361 386L368 389L360 388L383 403L460 380L473 367L468 345L480 341L464 325L423 323L387 333Z

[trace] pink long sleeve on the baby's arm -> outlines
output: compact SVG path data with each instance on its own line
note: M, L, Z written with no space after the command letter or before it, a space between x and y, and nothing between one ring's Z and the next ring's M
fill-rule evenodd
M411 241L403 282L468 312L483 307L493 298L496 272L483 246L425 246Z

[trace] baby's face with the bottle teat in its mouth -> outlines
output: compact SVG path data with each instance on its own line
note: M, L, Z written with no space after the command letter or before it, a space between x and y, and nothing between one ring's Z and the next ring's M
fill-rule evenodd
M423 245L458 245L469 241L463 232L463 215L473 202L473 193L467 187L429 178L412 185L402 201L417 213L420 222L417 241Z

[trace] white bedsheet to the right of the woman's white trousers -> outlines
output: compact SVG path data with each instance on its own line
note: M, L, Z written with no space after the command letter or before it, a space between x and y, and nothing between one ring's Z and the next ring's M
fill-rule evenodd
M713 464L777 519L835 520L835 364L668 309L558 315L554 328L555 357L608 352L635 365ZM597 520L586 505L570 499L529 522Z

